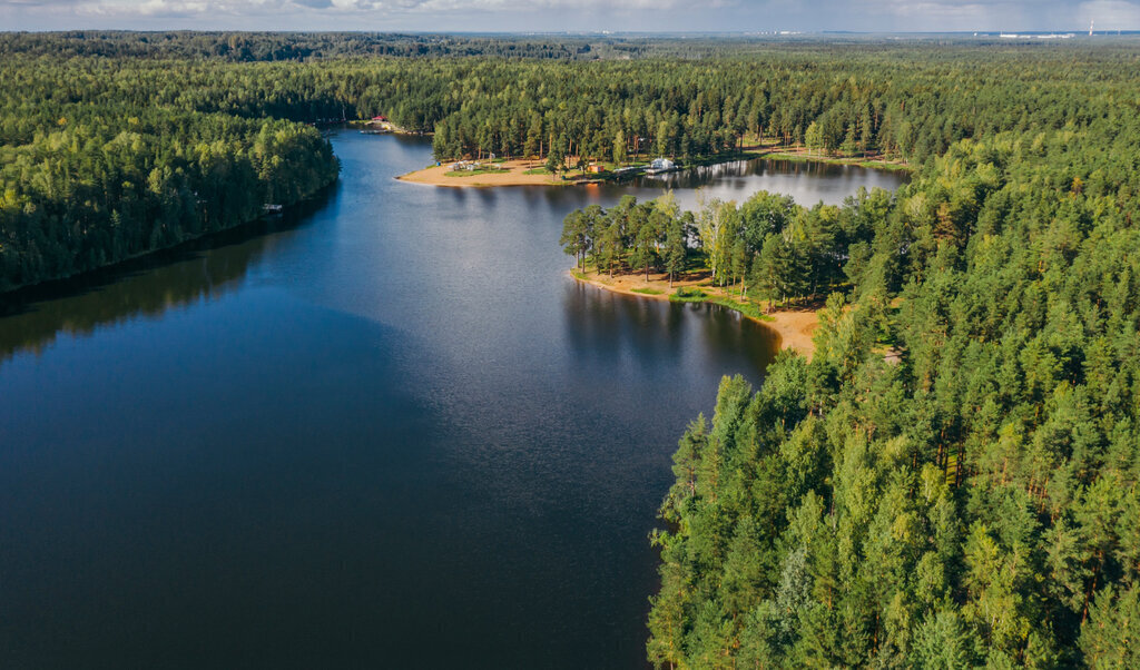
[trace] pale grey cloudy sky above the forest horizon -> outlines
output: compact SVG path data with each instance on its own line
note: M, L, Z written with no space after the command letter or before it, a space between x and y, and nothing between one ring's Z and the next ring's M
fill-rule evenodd
M1140 30L1140 0L0 0L0 30Z

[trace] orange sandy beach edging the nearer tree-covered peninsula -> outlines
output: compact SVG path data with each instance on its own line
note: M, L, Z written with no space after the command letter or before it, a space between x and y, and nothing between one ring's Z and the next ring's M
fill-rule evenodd
M717 286L709 285L707 275L686 275L684 276L684 279L674 281L673 288L670 288L669 277L661 273L650 272L650 280L646 281L645 275L643 273L614 275L611 279L605 273L581 272L577 268L570 269L569 272L571 277L583 284L589 284L591 286L596 286L612 293L633 295L636 297L648 297L651 300L668 301L669 296L676 292L677 288L682 287L700 288L707 293L710 299L731 299L732 302L728 304L723 302L717 302L717 304L722 304L727 309L736 309L732 304L738 302L733 292L731 289L724 291ZM744 304L762 308L760 303L755 301L748 301ZM806 359L812 360L812 354L815 353L815 343L812 341L812 335L815 333L815 328L820 324L819 310L782 309L772 312L763 312L762 318L757 318L741 309L736 309L736 311L741 312L741 316L744 318L751 319L752 321L774 330L780 337L780 349L791 349L804 356ZM762 311L763 309L758 310L757 313L760 313Z

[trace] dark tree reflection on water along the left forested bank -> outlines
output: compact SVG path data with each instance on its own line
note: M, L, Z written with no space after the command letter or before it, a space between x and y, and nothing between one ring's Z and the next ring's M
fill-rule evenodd
M21 351L39 353L60 335L89 335L104 325L225 295L241 286L275 235L311 224L336 189L329 186L280 216L0 296L0 363Z

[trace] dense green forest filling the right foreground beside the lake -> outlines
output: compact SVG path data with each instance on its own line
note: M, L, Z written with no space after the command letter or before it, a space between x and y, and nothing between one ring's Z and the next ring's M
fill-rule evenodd
M657 667L1140 664L1140 99L1098 88L829 216L868 237L820 256L812 361L726 378L681 439Z

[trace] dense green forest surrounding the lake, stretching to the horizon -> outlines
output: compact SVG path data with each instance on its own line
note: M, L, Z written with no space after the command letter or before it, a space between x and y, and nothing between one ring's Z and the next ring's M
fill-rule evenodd
M602 271L828 296L811 362L726 379L675 456L649 659L1140 665L1140 50L854 40L0 35L0 289L177 244L336 174L306 123L437 156L906 161L844 206L762 194L567 221ZM885 356L890 352L893 356Z

